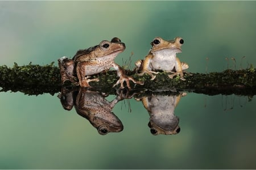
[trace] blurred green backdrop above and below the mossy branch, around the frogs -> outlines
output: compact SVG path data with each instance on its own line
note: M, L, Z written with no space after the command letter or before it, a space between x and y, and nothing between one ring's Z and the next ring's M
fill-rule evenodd
M190 72L244 69L256 65L255 9L255 1L1 1L0 64L57 65L119 37L127 48L115 62L133 53L133 68L154 37L181 36L177 56ZM256 168L255 99L188 94L175 110L180 133L157 137L134 99L115 105L125 128L106 136L56 95L1 92L0 102L0 169Z

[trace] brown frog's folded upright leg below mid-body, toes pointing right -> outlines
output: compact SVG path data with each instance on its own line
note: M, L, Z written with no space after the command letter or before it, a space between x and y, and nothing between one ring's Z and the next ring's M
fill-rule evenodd
M79 84L81 87L90 87L89 82L98 82L99 79L88 79L90 76L86 76L86 62L77 63L76 73L79 78Z

